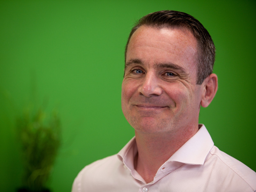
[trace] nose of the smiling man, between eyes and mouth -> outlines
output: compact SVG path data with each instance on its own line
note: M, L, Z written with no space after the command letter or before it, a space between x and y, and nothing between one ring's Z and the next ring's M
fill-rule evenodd
M159 79L153 73L146 74L138 91L145 97L150 97L152 95L161 95L163 92L160 86Z

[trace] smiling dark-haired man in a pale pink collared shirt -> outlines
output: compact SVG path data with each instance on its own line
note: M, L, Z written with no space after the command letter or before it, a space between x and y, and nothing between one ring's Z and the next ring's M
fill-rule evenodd
M132 28L125 52L122 110L135 138L86 166L72 191L255 191L256 173L220 151L200 107L217 92L215 47L203 25L159 11Z

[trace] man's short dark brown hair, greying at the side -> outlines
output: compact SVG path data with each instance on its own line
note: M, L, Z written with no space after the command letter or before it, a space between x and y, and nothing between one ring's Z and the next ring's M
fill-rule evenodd
M197 80L196 84L202 84L204 79L212 74L213 64L215 61L215 46L212 37L204 26L191 15L179 11L158 11L149 13L142 17L132 28L125 47L126 52L132 34L140 27L152 28L178 28L188 29L191 31L197 40Z

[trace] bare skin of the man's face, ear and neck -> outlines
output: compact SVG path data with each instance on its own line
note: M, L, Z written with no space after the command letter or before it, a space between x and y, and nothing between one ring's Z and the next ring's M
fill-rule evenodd
M200 106L217 91L217 76L197 79L197 42L185 29L141 26L131 37L122 83L122 110L135 130L136 171L146 183L198 130Z

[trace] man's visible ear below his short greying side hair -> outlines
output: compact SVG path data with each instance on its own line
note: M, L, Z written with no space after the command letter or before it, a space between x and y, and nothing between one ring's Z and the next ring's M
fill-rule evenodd
M218 78L216 74L211 74L203 82L203 95L201 100L201 106L207 107L212 102L217 89L218 89Z

